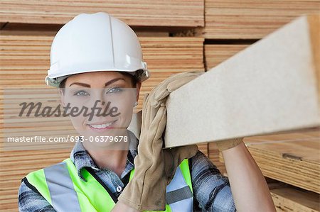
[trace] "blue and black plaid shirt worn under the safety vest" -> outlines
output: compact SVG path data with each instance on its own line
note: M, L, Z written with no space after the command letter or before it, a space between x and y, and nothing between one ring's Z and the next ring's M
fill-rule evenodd
M137 145L139 140L128 130L130 138L134 136L137 142L129 143L129 151L124 171L119 177L110 169L100 169L87 153L81 142L75 144L70 159L73 160L78 170L78 175L82 178L80 171L85 167L90 167L95 174L104 182L114 196L119 196L126 186L125 177L134 169L134 157L137 155ZM194 211L235 211L235 203L231 194L228 178L220 174L215 165L201 151L191 159L191 181L193 186L193 210ZM19 211L55 211L53 207L40 194L31 190L24 182L18 191Z

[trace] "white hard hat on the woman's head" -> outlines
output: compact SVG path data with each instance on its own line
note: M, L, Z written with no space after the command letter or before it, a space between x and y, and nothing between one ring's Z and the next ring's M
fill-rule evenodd
M59 87L71 74L129 72L140 82L149 78L134 30L108 13L81 13L53 39L46 84Z

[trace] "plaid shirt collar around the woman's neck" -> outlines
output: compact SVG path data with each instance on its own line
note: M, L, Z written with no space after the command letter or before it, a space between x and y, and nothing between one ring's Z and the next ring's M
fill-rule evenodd
M129 135L129 151L127 155L127 163L130 164L132 167L134 167L134 157L138 155L137 147L139 145L139 140L137 137L132 133L130 130L128 130ZM75 167L78 171L78 176L80 179L85 180L82 177L81 170L85 167L90 167L95 170L100 170L99 167L97 167L97 164L92 160L92 157L90 157L87 150L85 150L85 147L83 147L82 142L78 140L77 143L75 143L75 146L73 147L73 150L70 152L70 159L75 164Z

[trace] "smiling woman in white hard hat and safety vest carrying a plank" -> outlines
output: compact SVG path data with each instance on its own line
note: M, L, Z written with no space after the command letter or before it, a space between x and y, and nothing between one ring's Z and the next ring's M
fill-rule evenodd
M142 148L137 146L147 144L138 145L139 140L127 128L149 72L137 35L122 21L107 13L76 16L55 35L50 62L46 82L60 88L64 106L99 106L107 108L108 116L98 116L95 111L91 118L70 117L82 142L75 144L69 159L23 179L18 196L20 211L193 211L193 207L195 211L275 211L265 178L242 140L218 143L228 178L193 147L188 151L178 148L183 161L171 175L147 175L150 169L144 174L141 167L149 161L139 160L144 152L138 152ZM100 135L129 142L90 141ZM146 141L144 135L139 138ZM150 158L151 163L158 162L160 170L166 170L166 164L159 160L164 155L161 152ZM137 170L133 174L134 167ZM171 195L179 191L183 193Z

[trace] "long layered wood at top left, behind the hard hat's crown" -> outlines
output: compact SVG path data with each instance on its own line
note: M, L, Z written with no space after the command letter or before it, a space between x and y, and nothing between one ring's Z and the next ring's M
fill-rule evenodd
M130 26L204 26L204 1L1 0L0 22L64 24L79 13L104 11Z

